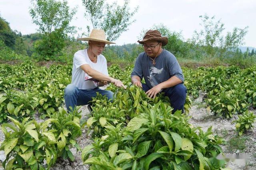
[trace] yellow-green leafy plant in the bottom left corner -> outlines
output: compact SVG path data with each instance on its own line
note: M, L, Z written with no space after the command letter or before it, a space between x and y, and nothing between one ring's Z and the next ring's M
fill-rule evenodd
M44 160L48 168L56 161L56 148L54 143L56 139L50 136L51 132L47 131L49 122L36 123L36 121L28 121L25 118L22 123L8 117L12 124L2 124L2 131L5 140L0 150L4 150L6 159L3 167L6 169L45 169ZM11 131L7 130L7 127Z

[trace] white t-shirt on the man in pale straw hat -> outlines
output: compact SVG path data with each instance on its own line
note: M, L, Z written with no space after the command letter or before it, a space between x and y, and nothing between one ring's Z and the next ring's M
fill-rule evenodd
M97 63L93 63L87 53L87 49L79 50L74 54L73 69L72 69L72 84L79 89L94 89L97 87L97 83L92 80L87 80L90 77L84 70L80 68L83 64L89 64L92 69L101 72L108 76L107 61L103 55L98 55ZM87 81L85 81L87 80Z

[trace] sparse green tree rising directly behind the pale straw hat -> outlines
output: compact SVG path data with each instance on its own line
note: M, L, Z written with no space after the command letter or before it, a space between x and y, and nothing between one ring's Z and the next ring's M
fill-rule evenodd
M89 17L94 29L103 29L108 41L115 41L121 33L128 30L132 16L138 7L130 11L129 0L124 0L124 5L117 2L108 4L106 0L82 0L85 7L85 17Z

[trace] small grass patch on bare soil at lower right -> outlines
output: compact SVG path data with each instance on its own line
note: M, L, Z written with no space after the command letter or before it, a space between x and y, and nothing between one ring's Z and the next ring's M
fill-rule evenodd
M240 150L243 152L246 149L246 141L248 141L248 137L244 136L235 136L232 137L229 141L227 141L227 150L231 153Z

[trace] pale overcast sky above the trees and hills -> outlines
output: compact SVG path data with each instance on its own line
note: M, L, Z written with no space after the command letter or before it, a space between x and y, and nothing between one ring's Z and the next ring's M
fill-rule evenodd
M117 2L122 5L123 0ZM68 0L68 4L71 8L77 6L70 24L80 28L78 33L86 32L86 25L91 26L91 23L84 17L82 0ZM170 31L181 32L184 40L192 38L195 30L202 29L199 16L207 14L225 24L224 33L231 32L234 27L248 26L243 46L256 47L256 0L130 0L129 6L130 9L139 6L132 18L136 21L115 41L117 45L136 43L142 29L160 23ZM10 23L11 29L22 35L35 33L38 27L32 23L29 7L30 0L0 0L0 16Z

